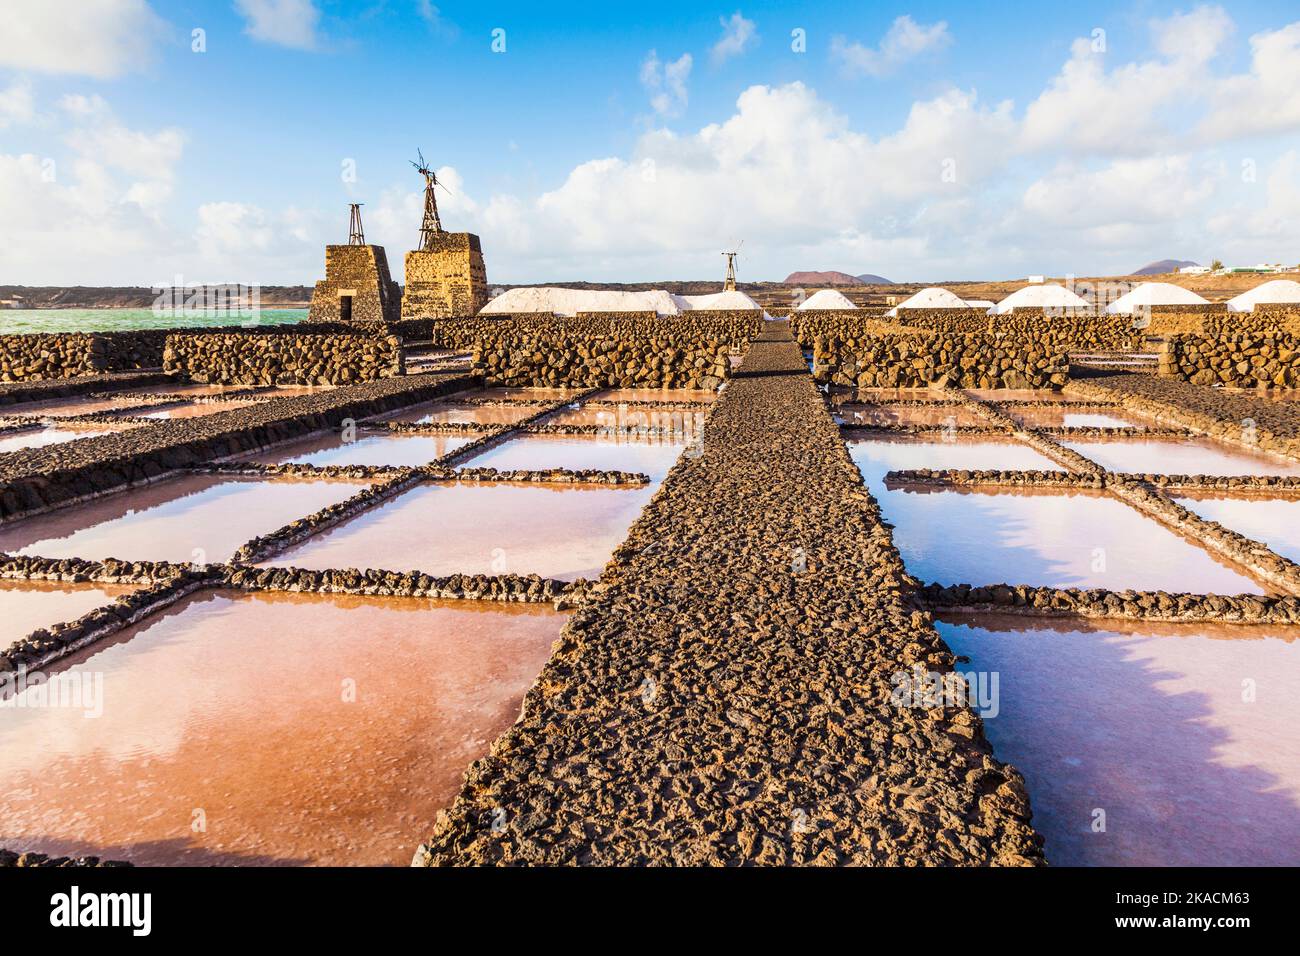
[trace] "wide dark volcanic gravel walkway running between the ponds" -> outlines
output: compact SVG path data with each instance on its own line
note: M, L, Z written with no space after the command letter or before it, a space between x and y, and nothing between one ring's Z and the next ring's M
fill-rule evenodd
M785 324L753 343L417 864L1043 861Z

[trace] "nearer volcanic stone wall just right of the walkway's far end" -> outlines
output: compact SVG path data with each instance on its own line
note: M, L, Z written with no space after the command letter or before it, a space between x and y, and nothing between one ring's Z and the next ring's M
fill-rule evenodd
M812 375L849 388L1060 388L1070 377L1062 349L1010 336L956 333L818 338Z

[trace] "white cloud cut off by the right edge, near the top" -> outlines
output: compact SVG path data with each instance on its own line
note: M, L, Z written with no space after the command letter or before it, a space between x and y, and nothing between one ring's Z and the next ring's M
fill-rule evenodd
M1251 72L1216 86L1206 138L1300 127L1300 22L1251 38Z

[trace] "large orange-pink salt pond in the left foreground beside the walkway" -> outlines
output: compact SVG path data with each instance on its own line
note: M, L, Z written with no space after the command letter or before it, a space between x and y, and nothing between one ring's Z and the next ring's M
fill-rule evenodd
M407 865L563 623L529 605L192 596L61 666L99 683L100 717L0 711L0 834L140 865Z

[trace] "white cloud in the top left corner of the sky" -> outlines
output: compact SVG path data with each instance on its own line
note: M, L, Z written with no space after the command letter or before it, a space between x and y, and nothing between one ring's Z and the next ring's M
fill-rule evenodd
M166 33L146 0L5 0L0 66L117 77L151 62Z

